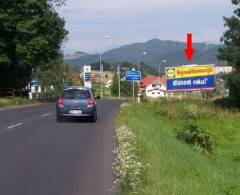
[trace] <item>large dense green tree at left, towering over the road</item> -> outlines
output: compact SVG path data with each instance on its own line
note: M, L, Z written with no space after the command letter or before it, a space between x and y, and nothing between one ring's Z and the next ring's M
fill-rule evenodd
M0 88L23 88L32 69L50 69L61 58L62 0L0 0Z

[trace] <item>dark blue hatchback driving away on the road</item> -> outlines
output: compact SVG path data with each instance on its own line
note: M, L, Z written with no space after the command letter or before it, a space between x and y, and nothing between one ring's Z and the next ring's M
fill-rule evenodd
M96 122L97 105L93 90L87 87L65 88L57 100L56 112L57 122L65 117L88 117Z

